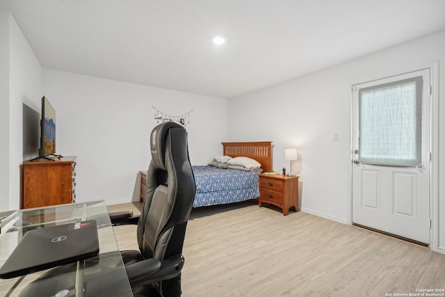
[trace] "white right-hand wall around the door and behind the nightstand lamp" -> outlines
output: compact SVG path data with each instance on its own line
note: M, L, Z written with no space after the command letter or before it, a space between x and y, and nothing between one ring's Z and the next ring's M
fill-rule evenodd
M274 169L283 166L285 147L298 147L302 210L350 221L351 91L354 83L387 77L439 61L439 118L445 117L445 31L379 51L304 77L229 100L231 141L273 141ZM258 115L252 121L246 113ZM444 152L445 129L439 122L439 147ZM339 141L333 141L339 133ZM440 163L439 163L440 162ZM445 184L445 161L439 165L439 184ZM439 247L445 247L445 192L439 188ZM442 249L441 248L441 249ZM445 250L444 250L445 251Z

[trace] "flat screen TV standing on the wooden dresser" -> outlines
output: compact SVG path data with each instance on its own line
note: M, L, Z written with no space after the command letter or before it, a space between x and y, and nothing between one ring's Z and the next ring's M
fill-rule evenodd
M40 158L56 153L56 110L46 97L42 97L40 120Z

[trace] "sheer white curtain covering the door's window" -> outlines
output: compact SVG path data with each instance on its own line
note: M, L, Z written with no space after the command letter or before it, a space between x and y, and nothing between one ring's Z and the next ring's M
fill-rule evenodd
M421 166L422 77L359 90L360 163Z

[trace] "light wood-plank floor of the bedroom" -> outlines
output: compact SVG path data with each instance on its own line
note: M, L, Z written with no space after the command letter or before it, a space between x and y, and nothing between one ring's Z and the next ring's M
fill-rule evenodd
M121 249L137 248L136 226L115 227L115 234ZM445 289L445 255L301 211L283 216L254 201L193 209L183 253L184 297Z

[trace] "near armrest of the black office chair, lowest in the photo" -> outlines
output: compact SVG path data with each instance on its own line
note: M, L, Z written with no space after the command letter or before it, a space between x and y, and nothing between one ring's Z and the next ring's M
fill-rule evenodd
M125 266L131 286L140 283L153 283L159 280L169 280L181 273L184 257L175 255L168 259L145 259Z

